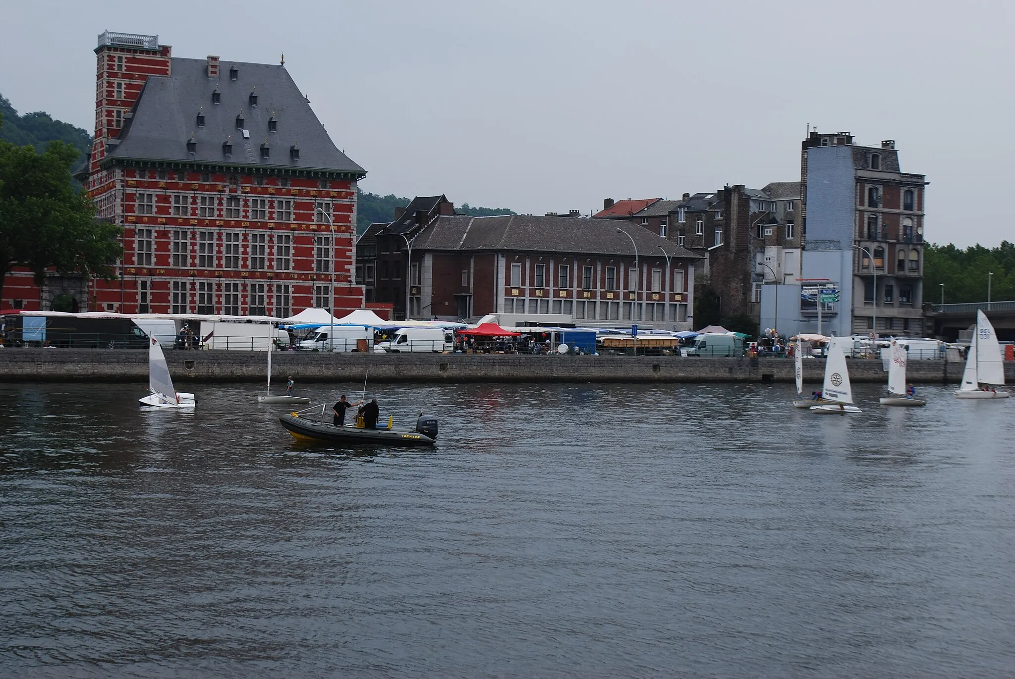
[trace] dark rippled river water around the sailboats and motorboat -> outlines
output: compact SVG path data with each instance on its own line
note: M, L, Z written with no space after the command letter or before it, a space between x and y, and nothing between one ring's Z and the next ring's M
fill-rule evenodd
M381 385L438 446L350 452L194 391L0 386L0 674L1015 671L1015 399Z

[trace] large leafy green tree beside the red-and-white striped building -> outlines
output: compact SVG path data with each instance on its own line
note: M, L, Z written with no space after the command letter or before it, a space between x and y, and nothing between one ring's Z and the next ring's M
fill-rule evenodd
M116 278L120 227L95 220L91 202L74 190L70 168L78 156L61 141L43 153L0 141L0 297L15 266L30 269L38 285L48 269Z

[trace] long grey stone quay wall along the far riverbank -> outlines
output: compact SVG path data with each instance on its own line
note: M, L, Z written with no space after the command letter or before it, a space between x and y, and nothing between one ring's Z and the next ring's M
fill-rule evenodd
M264 382L266 357L257 351L166 351L173 379L191 382ZM880 360L850 359L853 382L886 382ZM909 361L915 383L957 383L964 362ZM516 354L276 352L272 382L793 382L789 358L678 356L558 356ZM820 383L823 358L804 361L804 379ZM1015 362L1005 363L1015 380ZM146 382L147 350L0 349L0 383Z

